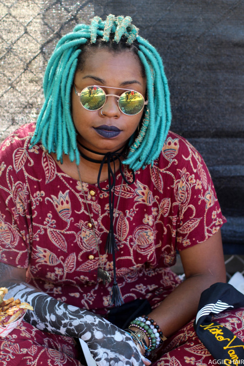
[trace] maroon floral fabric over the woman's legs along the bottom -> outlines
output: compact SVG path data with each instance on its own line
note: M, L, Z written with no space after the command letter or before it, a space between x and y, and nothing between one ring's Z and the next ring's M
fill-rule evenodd
M213 319L244 341L244 308L224 311ZM79 357L72 338L41 332L25 322L0 339L2 366L81 366ZM197 337L193 321L165 341L163 349L154 354L151 366L185 365L216 365L216 360Z

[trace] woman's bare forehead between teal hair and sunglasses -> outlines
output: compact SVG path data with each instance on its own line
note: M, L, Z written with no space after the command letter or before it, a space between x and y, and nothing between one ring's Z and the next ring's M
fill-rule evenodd
M113 86L133 80L145 83L139 57L130 50L114 52L96 49L85 52L83 61L81 71L78 70L76 73L79 79L87 78L89 75L95 76L104 80L107 85L109 82Z

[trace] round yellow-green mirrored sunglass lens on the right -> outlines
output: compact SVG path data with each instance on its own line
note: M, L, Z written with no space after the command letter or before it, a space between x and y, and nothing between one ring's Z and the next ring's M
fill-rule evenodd
M141 112L144 106L144 99L141 93L135 90L128 90L121 95L119 106L123 113L134 115Z

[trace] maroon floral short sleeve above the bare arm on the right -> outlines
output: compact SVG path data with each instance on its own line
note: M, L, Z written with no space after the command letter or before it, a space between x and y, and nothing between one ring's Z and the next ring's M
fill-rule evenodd
M185 139L179 141L175 200L179 204L177 249L202 243L226 222L210 173L199 152Z

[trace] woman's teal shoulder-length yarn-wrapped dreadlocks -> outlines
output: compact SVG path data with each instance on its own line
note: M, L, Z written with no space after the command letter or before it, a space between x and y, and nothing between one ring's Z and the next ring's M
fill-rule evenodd
M129 152L123 163L137 170L158 158L171 121L168 84L160 55L148 41L138 36L138 28L131 21L130 17L115 17L112 14L105 21L94 17L90 26L79 24L72 33L61 38L45 71L45 102L31 140L32 146L41 141L49 153L57 154L58 160L62 161L64 153L69 154L71 162L80 162L76 129L71 116L74 75L79 66L78 60L81 59L82 47L96 46L96 43L102 47L112 40L111 49L122 42L133 52L136 48L147 80L148 105L144 110L139 134L131 137Z

